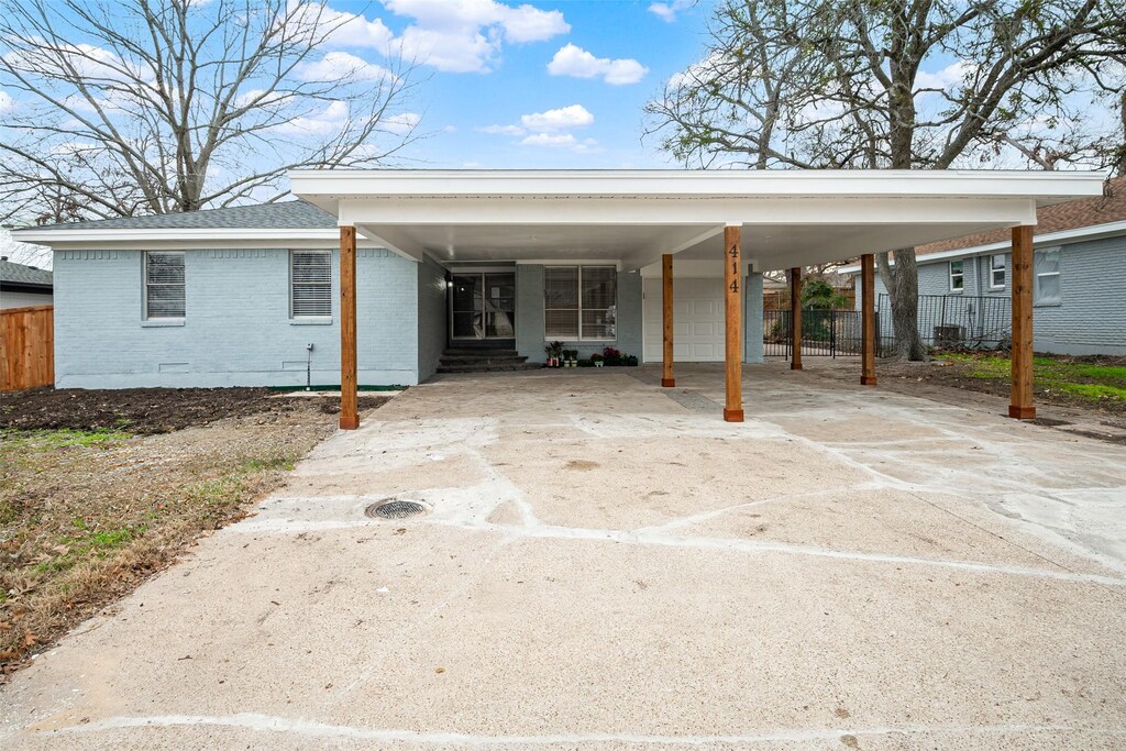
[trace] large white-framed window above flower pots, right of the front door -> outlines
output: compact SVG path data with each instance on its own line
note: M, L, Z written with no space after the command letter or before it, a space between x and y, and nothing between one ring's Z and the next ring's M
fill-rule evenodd
M613 266L544 269L544 336L607 340L617 336L617 280Z

